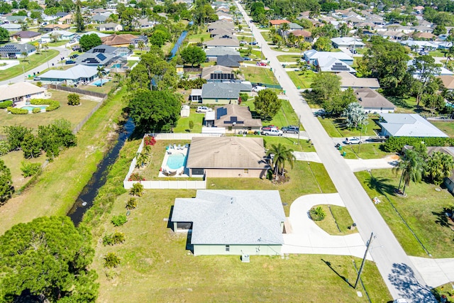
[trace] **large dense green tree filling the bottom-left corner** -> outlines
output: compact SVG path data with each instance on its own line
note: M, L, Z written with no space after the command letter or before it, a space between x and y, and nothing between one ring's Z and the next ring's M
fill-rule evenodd
M18 224L0 237L2 302L21 302L25 295L46 302L94 302L99 285L89 270L94 250L84 228L67 216Z

